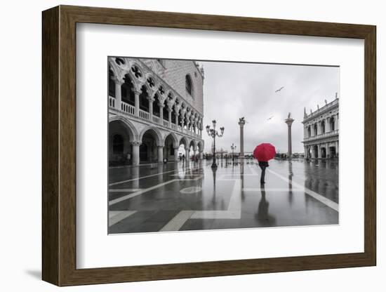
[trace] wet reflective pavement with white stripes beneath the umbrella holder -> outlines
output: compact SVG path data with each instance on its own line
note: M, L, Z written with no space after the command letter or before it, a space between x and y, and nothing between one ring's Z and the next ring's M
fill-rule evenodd
M338 224L335 161L109 168L109 233Z

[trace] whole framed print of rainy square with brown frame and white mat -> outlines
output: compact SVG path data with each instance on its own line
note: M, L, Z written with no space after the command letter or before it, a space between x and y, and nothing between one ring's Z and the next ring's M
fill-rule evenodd
M370 266L375 27L43 13L58 286Z

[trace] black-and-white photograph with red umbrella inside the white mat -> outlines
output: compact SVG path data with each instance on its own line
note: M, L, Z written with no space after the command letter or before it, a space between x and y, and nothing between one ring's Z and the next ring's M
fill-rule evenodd
M339 224L339 66L107 68L108 234Z

